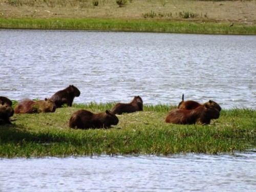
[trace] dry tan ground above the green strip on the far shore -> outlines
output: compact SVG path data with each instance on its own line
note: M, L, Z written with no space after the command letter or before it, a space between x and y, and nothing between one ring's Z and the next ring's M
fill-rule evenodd
M0 0L0 17L145 19L142 14L153 11L157 15L172 13L172 16L146 19L182 20L179 13L184 11L198 14L193 20L242 22L251 25L256 22L256 0L133 0L123 7L119 7L116 0L98 0L98 3L98 6L94 6L93 0Z

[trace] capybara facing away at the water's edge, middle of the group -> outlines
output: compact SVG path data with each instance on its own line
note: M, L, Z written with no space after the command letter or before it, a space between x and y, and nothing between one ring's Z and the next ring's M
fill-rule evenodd
M140 96L135 96L130 103L116 103L111 109L111 112L118 115L136 111L143 111L143 101Z

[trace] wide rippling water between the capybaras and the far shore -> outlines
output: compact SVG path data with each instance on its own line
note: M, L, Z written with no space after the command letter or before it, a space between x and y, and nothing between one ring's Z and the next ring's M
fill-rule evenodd
M74 102L253 108L256 36L0 29L0 95L44 99L74 84Z

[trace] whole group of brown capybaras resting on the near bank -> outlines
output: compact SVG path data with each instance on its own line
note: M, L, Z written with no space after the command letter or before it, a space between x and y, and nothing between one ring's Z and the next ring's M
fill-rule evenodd
M4 123L11 123L10 117L16 114L25 113L49 113L55 112L56 108L61 108L67 104L72 106L74 97L79 97L80 91L73 85L66 89L56 92L51 98L33 101L23 99L18 102L15 108L12 108L12 101L7 97L0 97L0 120ZM117 125L119 120L117 115L123 113L133 113L143 111L143 101L140 96L135 96L130 103L117 103L109 111L101 113L92 113L87 110L78 110L74 112L69 119L69 126L75 129L96 129L109 128L111 125ZM211 119L218 119L221 107L215 101L209 100L200 104L196 101L182 101L177 109L168 112L165 122L174 124L209 124Z

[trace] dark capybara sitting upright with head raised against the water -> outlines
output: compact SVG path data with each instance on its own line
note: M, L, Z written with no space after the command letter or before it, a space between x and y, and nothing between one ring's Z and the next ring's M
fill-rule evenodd
M66 89L56 92L51 99L55 102L57 108L61 108L63 104L72 106L75 97L80 96L80 91L73 85L70 85Z

